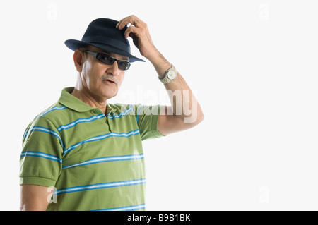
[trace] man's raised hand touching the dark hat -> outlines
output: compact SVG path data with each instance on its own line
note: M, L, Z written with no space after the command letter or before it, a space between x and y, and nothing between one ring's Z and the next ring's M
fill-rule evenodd
M138 17L134 15L127 16L117 23L116 28L122 30L125 25L129 24L131 26L126 29L125 38L131 37L141 55L147 59L151 60L153 56L158 55L158 50L153 44L147 24Z

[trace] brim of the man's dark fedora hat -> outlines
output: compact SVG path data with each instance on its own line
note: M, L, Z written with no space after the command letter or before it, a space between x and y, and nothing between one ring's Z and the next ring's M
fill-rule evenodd
M130 63L133 63L135 61L145 62L143 59L139 59L136 56L129 54L129 52L127 52L127 51L123 51L122 49L117 49L116 47L113 47L113 46L108 45L108 44L88 43L88 42L78 41L76 39L68 39L64 42L64 44L66 45L66 47L68 47L69 49L71 49L73 51L75 51L76 49L78 49L80 47L91 45L93 47L97 47L97 48L102 49L104 51L110 51L110 52L115 53L115 54L127 56L127 57L129 57Z

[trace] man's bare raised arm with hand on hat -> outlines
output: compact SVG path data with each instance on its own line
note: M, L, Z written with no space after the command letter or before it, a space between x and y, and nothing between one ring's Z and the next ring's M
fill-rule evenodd
M166 71L172 67L172 64L155 48L148 26L132 15L120 20L117 28L123 29L129 23L131 26L126 29L126 38L133 39L141 55L153 64L159 78L164 78ZM204 114L201 106L180 73L177 73L177 77L170 83L165 84L165 88L172 106L164 107L160 112L158 130L162 135L187 130L203 121Z

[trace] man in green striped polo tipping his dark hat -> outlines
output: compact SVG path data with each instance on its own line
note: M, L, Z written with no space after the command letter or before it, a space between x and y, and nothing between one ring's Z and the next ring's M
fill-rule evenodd
M130 63L143 61L130 54L128 37L155 67L172 107L107 103ZM145 209L141 141L196 126L204 118L201 107L134 15L94 20L81 41L65 44L74 51L76 87L65 88L25 130L20 209Z

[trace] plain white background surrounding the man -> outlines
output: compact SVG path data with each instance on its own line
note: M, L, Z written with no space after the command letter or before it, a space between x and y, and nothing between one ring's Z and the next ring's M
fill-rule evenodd
M196 128L143 142L148 210L318 209L317 1L1 1L1 210L19 206L28 123L76 83L73 51L95 18L144 20L196 92ZM132 42L131 42L132 43ZM133 54L140 56L133 48ZM110 102L169 104L133 63Z

